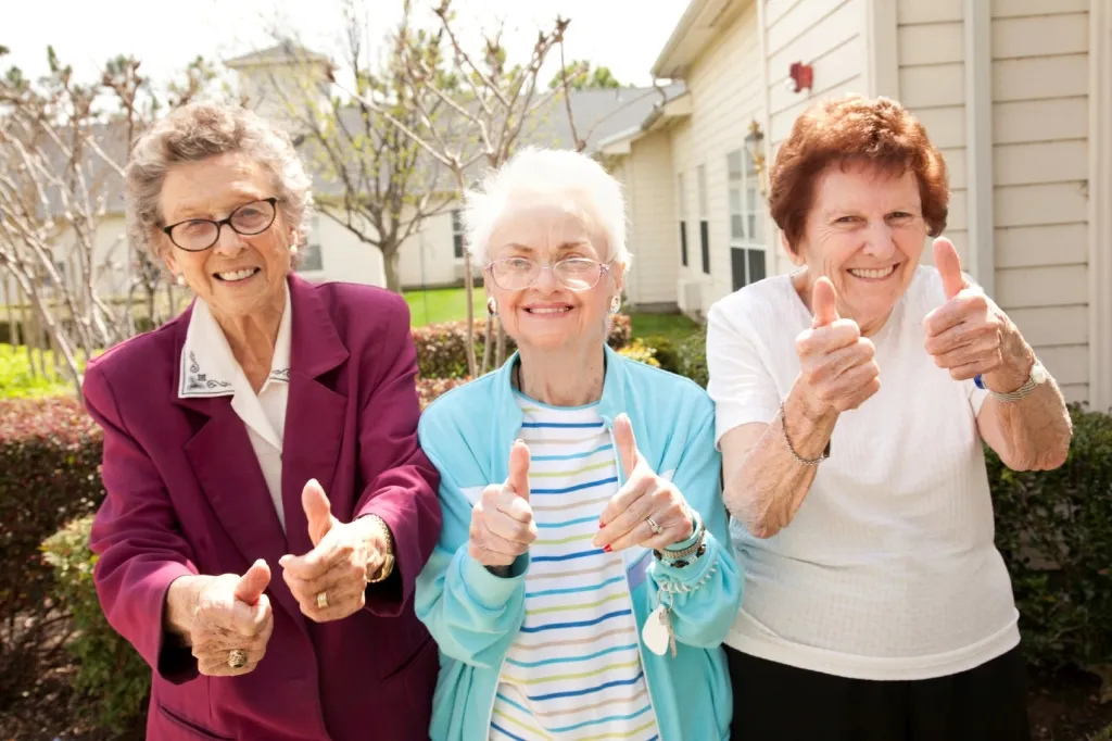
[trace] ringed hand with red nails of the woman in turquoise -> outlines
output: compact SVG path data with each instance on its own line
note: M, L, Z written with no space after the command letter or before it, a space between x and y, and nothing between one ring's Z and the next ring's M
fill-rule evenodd
M600 530L592 541L595 547L606 552L631 545L659 550L691 537L695 525L684 495L648 467L637 451L633 425L625 414L614 419L614 442L626 482L603 510ZM659 535L653 533L648 517L662 528Z

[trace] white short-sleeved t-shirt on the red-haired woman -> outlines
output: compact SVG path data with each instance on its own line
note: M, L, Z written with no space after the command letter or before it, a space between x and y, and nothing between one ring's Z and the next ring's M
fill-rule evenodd
M919 268L871 338L881 389L840 416L831 457L792 523L761 540L732 521L745 593L731 646L840 676L917 680L1019 643L976 429L986 393L953 381L923 347L923 318L944 300L937 270ZM718 439L774 419L811 319L786 275L711 308Z

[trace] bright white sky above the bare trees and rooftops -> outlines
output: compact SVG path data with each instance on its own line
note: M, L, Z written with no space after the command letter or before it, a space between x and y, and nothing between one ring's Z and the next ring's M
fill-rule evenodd
M399 16L400 0L355 0L386 33ZM415 0L429 8L436 0ZM338 57L345 0L0 0L0 45L31 77L46 72L46 48L82 79L120 53L142 60L156 81L173 77L197 55L230 59L269 46L274 30L292 30L309 48ZM525 58L537 29L557 14L572 19L567 59L590 59L609 67L623 83L647 85L649 68L667 41L687 0L453 0L465 32L477 38L504 22L504 41L514 58ZM160 7L161 13L155 10ZM377 30L377 29L373 29ZM378 42L378 39L374 39Z

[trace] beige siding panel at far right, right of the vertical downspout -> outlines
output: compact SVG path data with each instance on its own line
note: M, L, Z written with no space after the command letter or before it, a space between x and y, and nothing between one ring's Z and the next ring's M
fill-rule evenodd
M992 1L996 300L1089 394L1089 2Z

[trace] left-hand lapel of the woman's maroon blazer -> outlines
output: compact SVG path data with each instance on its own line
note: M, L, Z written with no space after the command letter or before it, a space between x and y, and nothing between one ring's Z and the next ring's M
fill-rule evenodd
M187 313L178 326L179 356L188 325ZM181 364L178 363L173 399L179 406L208 417L185 445L186 458L197 483L245 562L251 564L262 559L270 566L267 592L304 631L305 616L278 566L278 560L288 552L286 536L247 428L232 408L230 396L179 397L180 374Z

